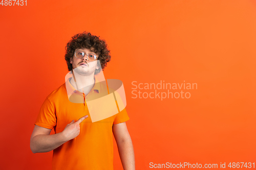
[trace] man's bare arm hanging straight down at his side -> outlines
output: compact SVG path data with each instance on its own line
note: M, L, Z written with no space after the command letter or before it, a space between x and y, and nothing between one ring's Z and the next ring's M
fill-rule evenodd
M135 157L133 150L133 142L127 130L125 122L114 124L112 127L114 137L116 139L118 152L124 170L135 169Z

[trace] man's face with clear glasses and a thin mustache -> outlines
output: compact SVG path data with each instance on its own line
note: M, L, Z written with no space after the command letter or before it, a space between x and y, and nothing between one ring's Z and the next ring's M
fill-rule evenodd
M77 50L82 51L84 54L93 53L91 50L87 48L78 48L75 51ZM96 55L96 57L98 57L98 55ZM72 64L74 71L77 72L77 74L82 76L89 76L94 74L95 69L99 68L99 66L97 66L97 62L98 62L97 60L89 61L87 59L87 55L84 55L83 58L78 59L75 57L75 54L74 54L73 59L72 58L70 59L70 63Z

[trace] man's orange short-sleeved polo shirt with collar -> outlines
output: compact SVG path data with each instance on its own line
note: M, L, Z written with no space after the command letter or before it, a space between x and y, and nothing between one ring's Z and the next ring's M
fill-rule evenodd
M92 123L84 100L88 97L97 99L101 92L107 90L95 78L94 87L88 95L84 95L70 84L70 79L47 96L35 122L37 126L54 129L56 134L62 132L72 120L76 122L88 115L80 123L80 134L53 150L52 169L113 169L112 126L130 118L124 108L111 117ZM76 96L75 100L83 100L83 103L80 100L70 102L69 96L72 98L73 95Z

